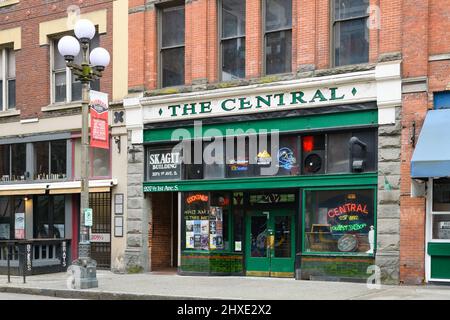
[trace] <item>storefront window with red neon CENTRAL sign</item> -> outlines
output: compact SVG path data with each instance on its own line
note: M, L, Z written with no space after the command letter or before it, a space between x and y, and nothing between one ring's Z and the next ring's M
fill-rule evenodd
M374 190L305 191L305 252L373 253Z

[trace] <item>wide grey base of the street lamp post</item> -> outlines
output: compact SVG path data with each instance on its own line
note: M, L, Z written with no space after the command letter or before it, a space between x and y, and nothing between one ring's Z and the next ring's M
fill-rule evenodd
M98 288L97 262L89 258L90 244L79 244L80 257L72 262L73 282L75 289Z

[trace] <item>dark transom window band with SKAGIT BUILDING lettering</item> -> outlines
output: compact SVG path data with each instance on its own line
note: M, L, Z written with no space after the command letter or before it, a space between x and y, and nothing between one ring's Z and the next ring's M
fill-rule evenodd
M357 139L357 143L352 137ZM353 146L350 153L351 141ZM147 148L146 181L219 180L377 170L375 129L284 134L279 137L246 132L237 137L216 137L212 141L185 140L181 145L182 150L177 151L176 159L183 158L183 161L177 163L173 162L174 146ZM167 160L162 156L164 159L170 156L172 162L163 163Z

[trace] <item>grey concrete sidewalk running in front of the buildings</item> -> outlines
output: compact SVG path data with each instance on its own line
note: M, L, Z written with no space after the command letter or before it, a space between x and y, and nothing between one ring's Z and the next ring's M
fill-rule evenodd
M76 299L445 299L450 286L382 286L369 289L366 284L298 281L294 279L253 277L188 277L175 274L114 274L98 271L99 288L67 289L67 274L27 277L0 276L0 292L38 294Z

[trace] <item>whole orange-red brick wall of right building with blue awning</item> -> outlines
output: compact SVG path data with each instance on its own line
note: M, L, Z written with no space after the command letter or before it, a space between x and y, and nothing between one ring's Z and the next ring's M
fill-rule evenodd
M429 61L432 55L450 52L449 14L450 3L446 0L403 0L402 3L403 77L428 80L427 92L403 95L400 279L409 284L424 280L426 254L426 201L410 197L410 161L414 152L411 130L415 123L418 138L427 110L433 108L433 92L449 88L450 60Z

